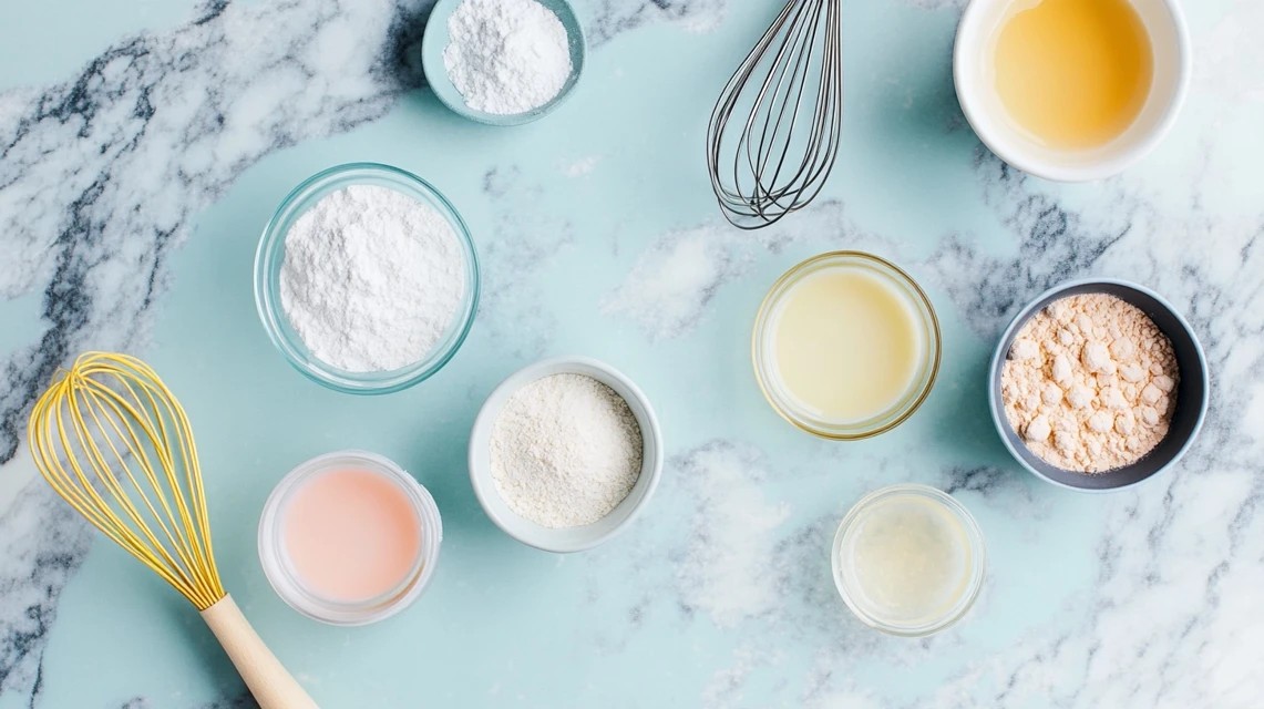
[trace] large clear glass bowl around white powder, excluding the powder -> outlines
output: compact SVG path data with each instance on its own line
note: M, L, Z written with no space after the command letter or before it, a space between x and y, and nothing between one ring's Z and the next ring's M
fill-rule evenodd
M407 195L430 205L447 220L465 254L465 292L447 325L447 330L435 346L418 361L389 372L348 372L321 361L289 325L281 305L281 267L286 260L286 235L295 221L326 195L351 185L377 185ZM406 389L439 372L456 350L474 324L479 298L478 253L469 229L456 209L428 182L399 168L377 163L348 163L331 167L307 178L295 187L277 207L277 212L263 229L259 250L254 257L254 303L259 320L272 344L286 360L308 379L330 389L349 394L388 394Z

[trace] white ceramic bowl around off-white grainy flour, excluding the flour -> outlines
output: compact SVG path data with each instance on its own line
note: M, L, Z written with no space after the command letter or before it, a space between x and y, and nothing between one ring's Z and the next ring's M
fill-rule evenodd
M544 527L511 509L495 489L489 460L492 426L506 402L525 384L554 374L583 374L614 389L614 393L623 397L628 408L632 409L632 415L636 416L636 421L641 426L641 439L645 441L641 476L632 485L628 497L623 498L618 507L597 522L564 530ZM483 408L478 412L478 418L474 420L474 430L470 432L469 469L474 495L478 497L487 516L504 533L544 551L560 554L584 551L623 531L650 502L655 488L659 487L659 478L662 476L662 431L659 428L659 417L655 416L650 399L619 370L584 356L545 359L514 372L488 394Z

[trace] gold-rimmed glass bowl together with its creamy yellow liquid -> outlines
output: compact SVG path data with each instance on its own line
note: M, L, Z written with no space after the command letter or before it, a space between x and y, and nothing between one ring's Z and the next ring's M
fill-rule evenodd
M755 320L763 397L799 428L834 440L876 436L921 406L939 373L930 298L895 264L832 251L787 270Z

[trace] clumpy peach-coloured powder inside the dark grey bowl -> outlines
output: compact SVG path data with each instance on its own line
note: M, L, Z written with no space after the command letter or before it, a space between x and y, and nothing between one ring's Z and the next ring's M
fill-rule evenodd
M1001 397L1031 452L1063 470L1131 465L1168 433L1176 411L1172 341L1114 296L1062 298L1010 346Z

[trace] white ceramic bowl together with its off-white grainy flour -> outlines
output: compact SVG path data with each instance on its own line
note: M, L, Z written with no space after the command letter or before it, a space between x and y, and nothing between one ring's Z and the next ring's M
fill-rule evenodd
M470 483L511 537L583 551L641 513L662 450L653 407L631 379L589 358L545 359L488 394L470 432Z

